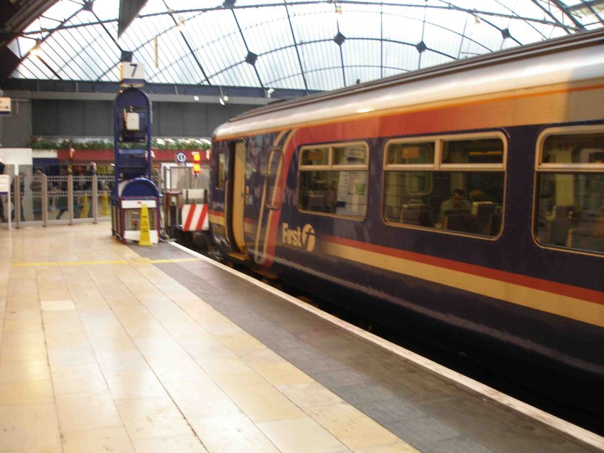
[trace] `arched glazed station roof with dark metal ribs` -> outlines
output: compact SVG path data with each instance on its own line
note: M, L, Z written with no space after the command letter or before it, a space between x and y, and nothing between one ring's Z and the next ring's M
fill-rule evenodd
M203 4L203 8L192 8ZM603 26L599 0L60 0L14 41L13 78L331 90Z

